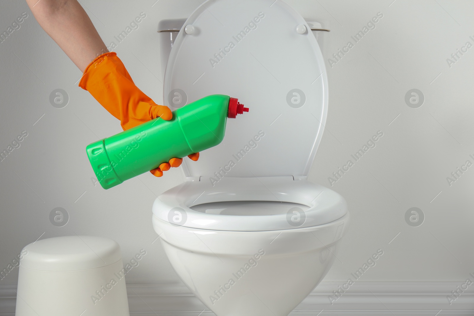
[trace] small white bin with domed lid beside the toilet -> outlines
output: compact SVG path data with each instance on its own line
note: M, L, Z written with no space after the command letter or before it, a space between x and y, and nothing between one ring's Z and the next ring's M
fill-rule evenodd
M64 236L23 248L16 316L129 316L120 246Z

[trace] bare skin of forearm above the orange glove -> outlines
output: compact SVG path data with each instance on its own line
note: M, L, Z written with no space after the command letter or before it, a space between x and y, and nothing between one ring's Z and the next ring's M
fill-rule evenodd
M91 19L77 0L26 0L39 25L84 72L108 52Z

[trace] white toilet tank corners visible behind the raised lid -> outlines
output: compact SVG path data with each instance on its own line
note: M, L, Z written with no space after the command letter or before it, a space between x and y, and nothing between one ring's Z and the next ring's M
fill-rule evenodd
M310 27L313 35L318 41L321 53L326 58L326 49L328 46L328 33L329 33L329 21L317 18L305 18L306 23ZM179 19L165 19L158 23L158 36L160 41L160 65L161 65L161 78L164 78L164 71L166 70L166 63L168 63L168 57L170 56L171 48L173 47L174 40L186 22L186 18Z

